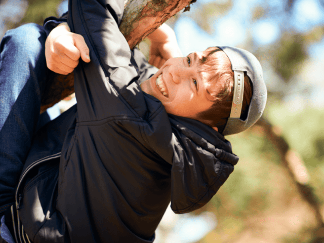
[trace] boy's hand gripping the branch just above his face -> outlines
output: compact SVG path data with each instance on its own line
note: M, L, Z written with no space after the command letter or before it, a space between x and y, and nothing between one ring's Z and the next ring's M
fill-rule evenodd
M149 64L160 68L169 58L182 57L176 35L168 25L161 25L147 37L151 41Z

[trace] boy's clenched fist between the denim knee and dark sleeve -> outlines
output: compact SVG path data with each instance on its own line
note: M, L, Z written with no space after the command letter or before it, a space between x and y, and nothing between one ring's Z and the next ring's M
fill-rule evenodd
M82 35L70 32L67 23L61 23L49 34L45 43L47 67L67 75L72 72L81 57L90 62L89 48Z

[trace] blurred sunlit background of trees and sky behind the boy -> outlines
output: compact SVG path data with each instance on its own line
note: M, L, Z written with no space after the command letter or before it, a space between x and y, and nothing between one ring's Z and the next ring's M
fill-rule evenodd
M0 37L66 7L61 0L0 0ZM253 128L226 137L240 160L210 203L186 215L169 208L154 242L323 243L324 1L197 0L190 7L167 22L182 53L249 50L263 66L268 103ZM145 41L140 49L147 52Z

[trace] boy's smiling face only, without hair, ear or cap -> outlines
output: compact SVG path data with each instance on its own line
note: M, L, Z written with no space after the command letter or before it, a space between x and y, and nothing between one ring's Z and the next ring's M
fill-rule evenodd
M169 59L141 84L142 90L160 100L169 114L195 118L213 104L207 92L206 75L199 72L199 59L200 52Z

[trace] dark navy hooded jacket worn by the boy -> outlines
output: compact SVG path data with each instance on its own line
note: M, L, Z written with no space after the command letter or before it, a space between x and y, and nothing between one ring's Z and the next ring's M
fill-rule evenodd
M150 69L118 29L123 11L123 0L69 3L91 62L74 70L77 104L28 155L16 193L22 241L152 242L170 201L179 214L200 208L238 161L221 134L142 92Z

